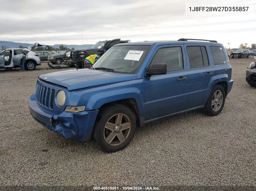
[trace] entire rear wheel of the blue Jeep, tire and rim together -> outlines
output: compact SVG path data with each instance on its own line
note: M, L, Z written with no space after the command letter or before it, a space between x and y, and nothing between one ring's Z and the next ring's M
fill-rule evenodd
M205 103L204 113L209 116L216 116L221 113L225 104L225 91L224 88L216 84L212 88L211 94Z

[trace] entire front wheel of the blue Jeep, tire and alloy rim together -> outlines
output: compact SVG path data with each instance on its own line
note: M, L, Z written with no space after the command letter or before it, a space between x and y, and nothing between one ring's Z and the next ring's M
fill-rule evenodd
M112 153L131 142L136 127L135 114L128 107L117 104L100 111L93 135L99 148Z

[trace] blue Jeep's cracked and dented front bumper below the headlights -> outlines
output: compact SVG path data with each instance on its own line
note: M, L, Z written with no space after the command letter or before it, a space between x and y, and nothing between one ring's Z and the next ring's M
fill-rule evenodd
M30 97L28 105L30 114L38 123L62 137L80 142L91 139L98 110L56 114L39 107L35 94Z

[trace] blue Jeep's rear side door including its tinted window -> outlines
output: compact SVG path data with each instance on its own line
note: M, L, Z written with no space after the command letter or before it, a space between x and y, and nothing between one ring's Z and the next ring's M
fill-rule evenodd
M211 78L216 75L206 44L184 44L188 65L188 101L185 109L203 106Z

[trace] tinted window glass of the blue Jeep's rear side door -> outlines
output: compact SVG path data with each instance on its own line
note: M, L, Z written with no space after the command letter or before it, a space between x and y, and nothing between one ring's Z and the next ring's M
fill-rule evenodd
M187 46L190 68L208 66L208 56L204 46Z

